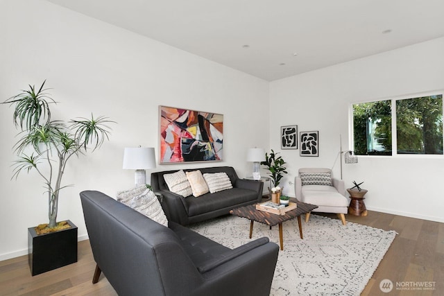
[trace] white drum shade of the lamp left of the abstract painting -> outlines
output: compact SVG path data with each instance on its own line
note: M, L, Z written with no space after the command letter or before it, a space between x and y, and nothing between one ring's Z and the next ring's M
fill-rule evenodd
M155 153L152 147L125 148L123 168L130 170L146 170L155 168Z

